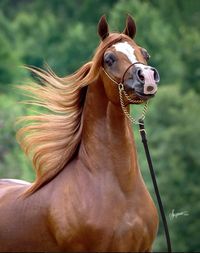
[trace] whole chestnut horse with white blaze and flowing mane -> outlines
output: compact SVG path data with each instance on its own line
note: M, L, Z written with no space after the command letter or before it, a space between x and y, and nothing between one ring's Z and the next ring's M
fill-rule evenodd
M73 75L32 69L43 85L23 89L45 112L24 117L17 139L36 180L0 180L1 252L151 251L157 210L118 89L127 112L157 90L135 32L130 16L123 33L110 33L103 16L93 59Z

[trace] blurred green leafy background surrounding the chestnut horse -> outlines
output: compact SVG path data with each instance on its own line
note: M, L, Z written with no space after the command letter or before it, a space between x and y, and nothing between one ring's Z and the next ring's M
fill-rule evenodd
M130 13L136 42L148 49L161 76L146 128L175 252L200 251L200 1L199 0L1 0L0 1L0 178L34 180L31 164L15 140L15 120L29 113L15 84L31 75L21 66L60 76L91 59L99 43L97 22L107 15L122 31ZM133 106L135 115L135 107ZM154 196L137 127L134 129L146 184ZM156 201L155 201L156 202ZM169 219L169 214L188 212ZM166 251L163 228L154 251Z

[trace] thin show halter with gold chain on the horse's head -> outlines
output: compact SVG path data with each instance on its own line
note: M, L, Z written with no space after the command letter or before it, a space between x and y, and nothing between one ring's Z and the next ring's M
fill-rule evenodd
M128 93L125 91L125 88L124 88L124 77L126 75L126 73L128 72L128 70L134 66L135 64L143 64L141 62L134 62L132 63L130 66L128 66L128 68L125 70L120 82L118 83L117 81L115 81L106 71L105 69L102 67L104 73L106 74L106 76L115 84L117 84L118 86L118 90L119 90L119 99L120 99L120 104L121 104L121 107L122 107L122 110L124 112L124 114L126 115L126 117L133 123L133 124L141 124L141 122L139 122L140 120L144 120L145 119L145 114L146 114L146 111L147 111L147 105L148 105L148 101L145 101L145 104L144 104L144 107L143 107L143 110L142 110L142 113L141 113L141 116L139 117L138 120L134 119L130 113L128 112L128 110L126 109L126 106L125 106L125 103L124 103L124 100L123 100L123 96L126 98L126 100L128 100L129 102L131 103L135 103L135 104L140 104L142 102L144 102L144 100L142 99L132 99ZM145 64L143 64L145 65Z

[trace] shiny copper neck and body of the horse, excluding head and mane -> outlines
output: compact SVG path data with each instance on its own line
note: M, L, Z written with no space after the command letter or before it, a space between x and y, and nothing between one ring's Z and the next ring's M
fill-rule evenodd
M28 195L29 185L0 181L1 252L151 251L157 211L118 90L98 71L87 87L79 145L64 168Z

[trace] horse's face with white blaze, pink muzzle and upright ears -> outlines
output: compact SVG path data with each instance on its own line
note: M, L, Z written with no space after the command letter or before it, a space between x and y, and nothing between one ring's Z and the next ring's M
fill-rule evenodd
M144 101L156 94L160 78L158 71L148 65L150 56L147 50L133 41L135 32L135 23L128 16L122 40L111 45L104 53L103 68L111 79L124 85L133 100L140 98ZM102 40L109 36L104 17L99 22L99 34Z

